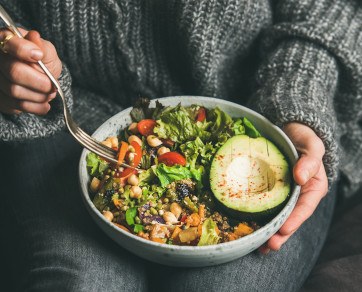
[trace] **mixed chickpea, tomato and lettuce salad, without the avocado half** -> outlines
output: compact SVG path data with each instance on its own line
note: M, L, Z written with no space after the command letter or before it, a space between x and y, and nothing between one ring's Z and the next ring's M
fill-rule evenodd
M212 245L259 228L224 213L210 188L215 153L237 135L260 137L245 117L200 105L149 107L140 99L132 123L103 143L118 151L123 168L87 155L95 207L115 226L154 242Z

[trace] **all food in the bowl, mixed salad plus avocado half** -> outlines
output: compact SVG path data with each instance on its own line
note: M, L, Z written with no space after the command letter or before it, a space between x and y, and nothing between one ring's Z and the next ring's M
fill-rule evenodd
M93 203L119 228L170 245L213 245L253 233L286 201L287 160L245 117L200 105L150 108L145 99L131 117L104 144L144 171L87 155Z

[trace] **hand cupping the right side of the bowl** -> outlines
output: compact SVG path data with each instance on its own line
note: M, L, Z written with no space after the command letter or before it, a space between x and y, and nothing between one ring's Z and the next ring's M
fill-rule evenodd
M261 253L277 251L293 235L317 208L320 200L327 194L328 180L322 158L325 148L314 131L300 123L289 123L284 132L300 154L293 169L294 180L301 185L297 204L287 221L262 247Z

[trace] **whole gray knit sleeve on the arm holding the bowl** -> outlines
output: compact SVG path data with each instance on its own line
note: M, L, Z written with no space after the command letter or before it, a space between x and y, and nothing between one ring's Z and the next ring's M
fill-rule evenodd
M332 182L339 160L336 94L348 91L344 98L358 98L361 84L356 80L362 76L361 4L281 0L273 17L262 40L252 107L278 126L300 122L311 127L324 142L324 164ZM348 90L341 88L346 80Z

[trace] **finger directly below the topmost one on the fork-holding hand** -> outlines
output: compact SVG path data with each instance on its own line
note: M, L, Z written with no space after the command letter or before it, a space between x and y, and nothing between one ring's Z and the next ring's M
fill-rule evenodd
M49 78L29 65L4 55L0 55L0 64L2 74L11 82L40 93L54 92Z

